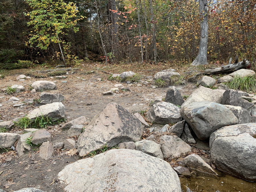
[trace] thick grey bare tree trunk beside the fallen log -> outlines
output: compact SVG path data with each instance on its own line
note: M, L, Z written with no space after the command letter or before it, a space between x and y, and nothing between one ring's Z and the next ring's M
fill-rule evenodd
M200 42L197 57L191 63L193 66L207 65L207 46L208 46L208 10L207 0L199 0L199 12L201 15Z

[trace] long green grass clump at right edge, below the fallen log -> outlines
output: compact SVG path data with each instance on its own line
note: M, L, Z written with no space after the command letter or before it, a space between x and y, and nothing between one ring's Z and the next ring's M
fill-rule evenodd
M256 92L256 78L254 76L235 77L233 81L223 84L227 85L229 89L241 90L247 93Z

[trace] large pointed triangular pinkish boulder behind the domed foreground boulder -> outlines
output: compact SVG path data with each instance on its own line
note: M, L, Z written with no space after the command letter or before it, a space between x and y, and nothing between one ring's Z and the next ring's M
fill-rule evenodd
M137 117L117 103L109 103L98 113L78 138L79 155L120 142L139 141L142 125Z

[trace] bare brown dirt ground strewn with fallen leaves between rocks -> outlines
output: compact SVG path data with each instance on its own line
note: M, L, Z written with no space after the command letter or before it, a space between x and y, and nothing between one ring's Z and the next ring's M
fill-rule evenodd
M43 80L56 81L57 89L45 91L47 93L59 93L65 96L63 104L65 106L65 116L67 121L71 121L77 117L85 116L90 122L98 112L100 112L106 104L116 102L121 104L130 112L146 111L149 109L150 102L165 98L165 88L150 88L151 84L137 86L136 84L129 85L131 91L119 91L114 95L102 95L103 92L114 88L114 85L119 82L108 81L109 74L96 70L96 73L85 75L83 71L90 71L95 68L88 67L87 69L79 69L72 75L68 75L66 79L55 79L46 77ZM165 67L164 69L168 69ZM83 70L83 71L81 71ZM31 77L25 81L16 80L17 75L24 74L30 69L25 71L15 72L16 75L8 75L4 79L0 79L0 89L7 88L14 84L22 85L27 90L21 93L6 95L0 92L0 120L9 121L17 117L23 117L31 110L40 106L37 102L34 104L24 105L24 108L13 107L12 102L7 102L10 97L14 96L20 99L20 102L25 99L34 98L38 100L42 92L30 93L30 84L34 81L40 80L39 78ZM126 70L129 71L129 70ZM140 75L154 76L160 69L153 69L150 72L139 72ZM111 73L120 73L120 71L108 70ZM122 72L122 71L121 71ZM138 71L134 71L138 72ZM78 78L80 77L80 78ZM102 81L97 79L101 78ZM144 78L144 77L143 77ZM82 80L85 79L85 80ZM145 77L146 79L146 77ZM67 83L63 83L65 80ZM146 79L148 80L148 79ZM124 86L127 84L122 83ZM190 95L195 85L192 83L183 84L177 87L181 95ZM47 128L52 135L51 143L56 144L69 138L66 136L67 130L61 130L61 125L55 127L50 126ZM13 128L8 130L11 133L22 134L22 130ZM77 139L77 138L75 138ZM36 187L42 191L58 192L63 191L59 187L57 174L67 165L79 159L78 155L68 156L65 154L66 150L56 149L54 155L49 160L42 160L38 154L38 148L34 148L29 154L19 157L13 150L2 150L0 154L0 189L5 191L15 191L24 187Z

